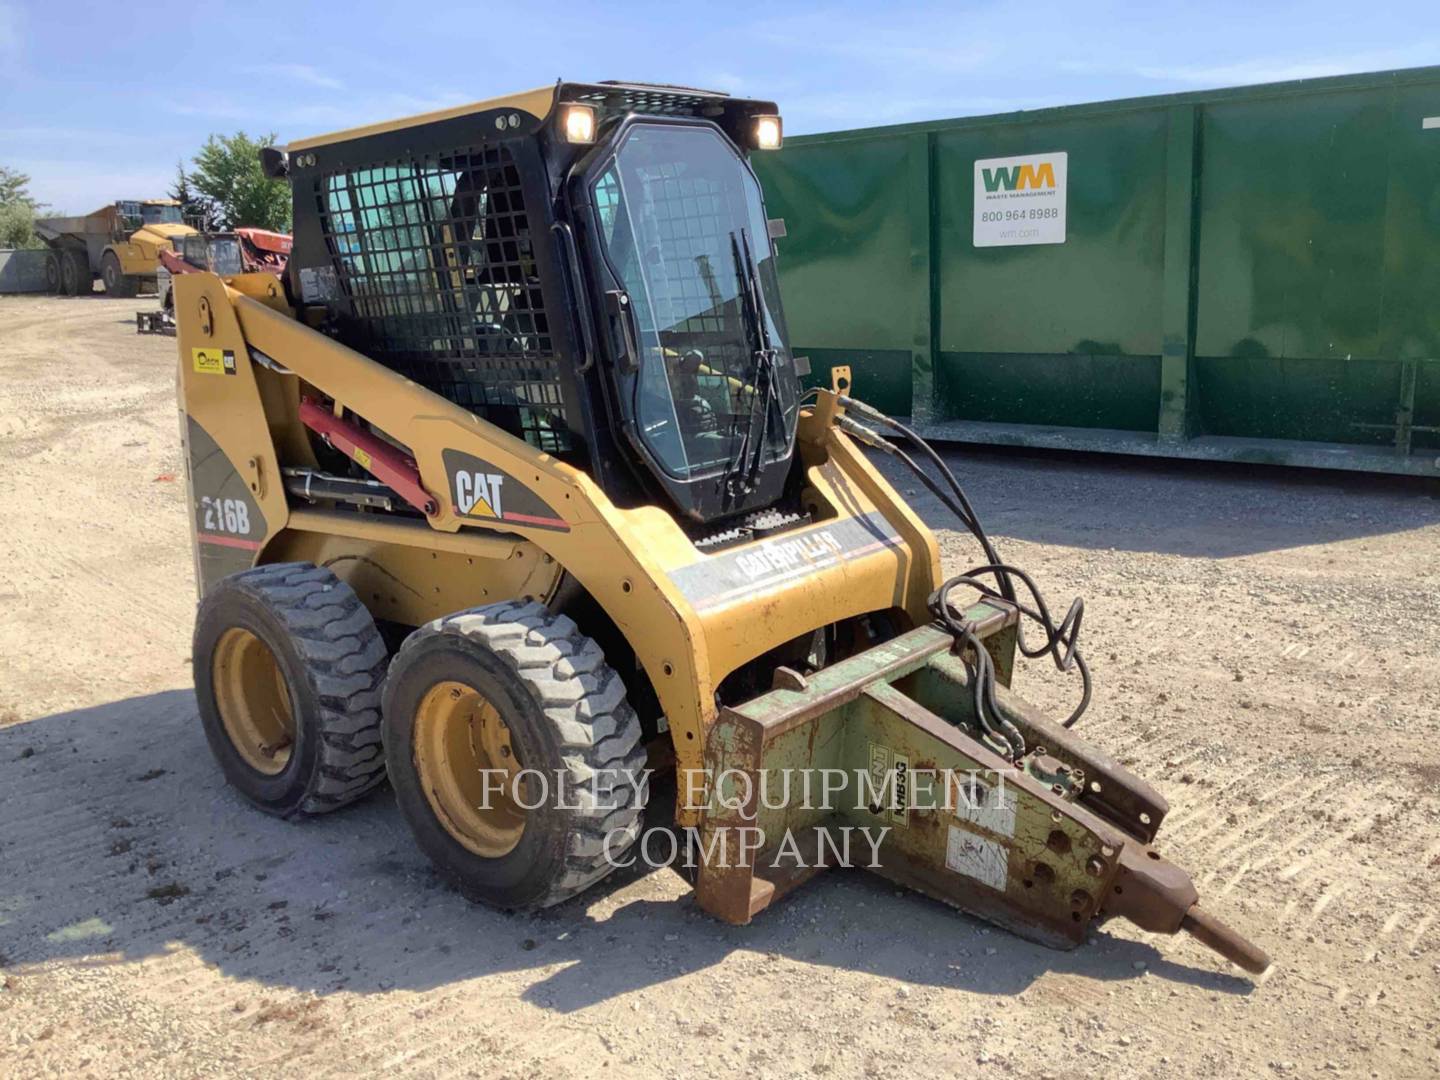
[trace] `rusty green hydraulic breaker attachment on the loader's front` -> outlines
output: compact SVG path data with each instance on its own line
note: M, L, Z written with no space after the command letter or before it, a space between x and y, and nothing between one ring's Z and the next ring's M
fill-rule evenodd
M1048 946L1120 916L1263 972L1269 956L1151 847L1165 799L1008 690L1015 609L986 599L965 619L995 661L1018 760L978 723L956 638L939 626L809 677L780 668L708 733L701 906L747 923L821 870L861 865Z

